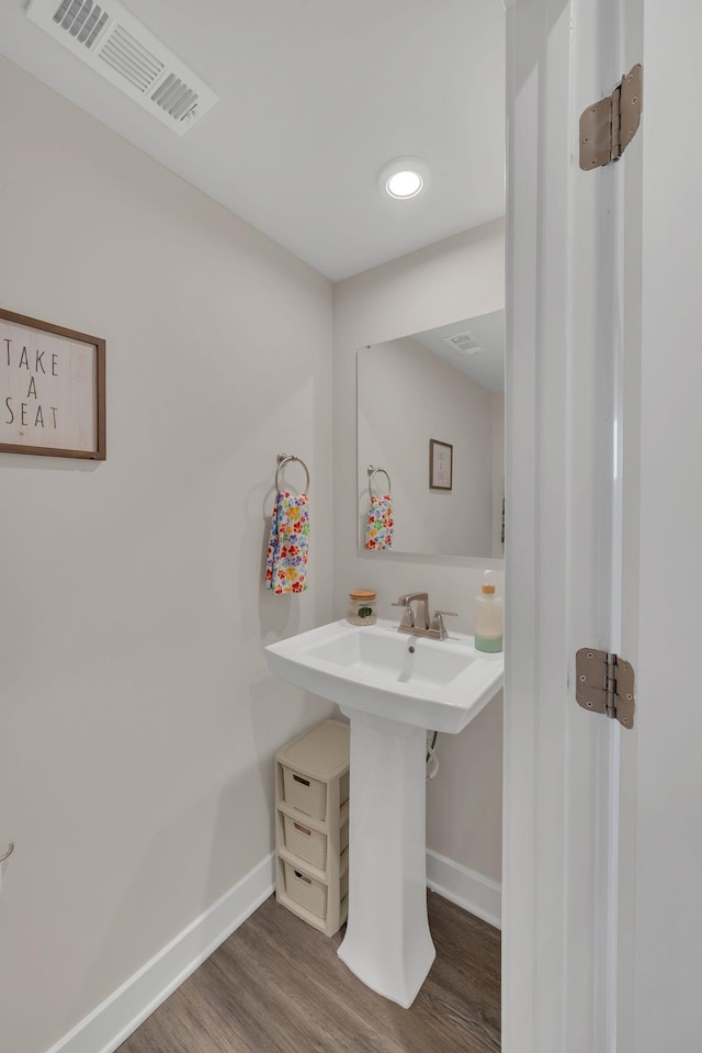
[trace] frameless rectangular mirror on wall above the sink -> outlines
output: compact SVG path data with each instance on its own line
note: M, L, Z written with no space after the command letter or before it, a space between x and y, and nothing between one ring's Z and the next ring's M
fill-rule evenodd
M503 310L361 348L356 425L362 551L503 556Z

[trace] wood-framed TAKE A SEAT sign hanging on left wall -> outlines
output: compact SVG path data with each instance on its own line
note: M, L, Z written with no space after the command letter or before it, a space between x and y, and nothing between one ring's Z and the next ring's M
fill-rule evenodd
M0 450L105 459L105 341L0 310Z

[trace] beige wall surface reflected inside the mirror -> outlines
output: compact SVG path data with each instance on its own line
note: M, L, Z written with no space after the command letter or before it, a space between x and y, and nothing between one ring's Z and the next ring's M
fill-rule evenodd
M394 551L497 554L492 550L492 397L416 340L388 340L359 351L362 542L369 511L367 466L373 464L386 468L393 482ZM503 411L501 417L503 426ZM432 438L453 447L451 490L429 488ZM503 441L501 447L503 458ZM385 493L386 483L384 475L376 475L374 493Z

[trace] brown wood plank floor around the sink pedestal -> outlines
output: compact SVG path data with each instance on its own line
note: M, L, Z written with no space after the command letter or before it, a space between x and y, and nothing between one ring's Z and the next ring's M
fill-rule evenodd
M117 1053L498 1053L500 934L429 893L437 960L411 1009L271 897Z

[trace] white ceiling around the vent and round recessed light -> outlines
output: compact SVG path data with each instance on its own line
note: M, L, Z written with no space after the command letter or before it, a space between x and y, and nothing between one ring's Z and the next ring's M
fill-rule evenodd
M0 4L8 58L335 281L505 211L502 0L127 0L220 96L182 137L25 5ZM393 201L404 155L431 184Z

